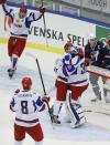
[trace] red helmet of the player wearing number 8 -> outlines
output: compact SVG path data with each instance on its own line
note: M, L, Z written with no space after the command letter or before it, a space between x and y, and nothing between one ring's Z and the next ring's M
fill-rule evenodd
M31 77L23 77L23 79L22 79L23 90L30 90L30 89L31 89L31 85L32 85L32 80L31 80Z

